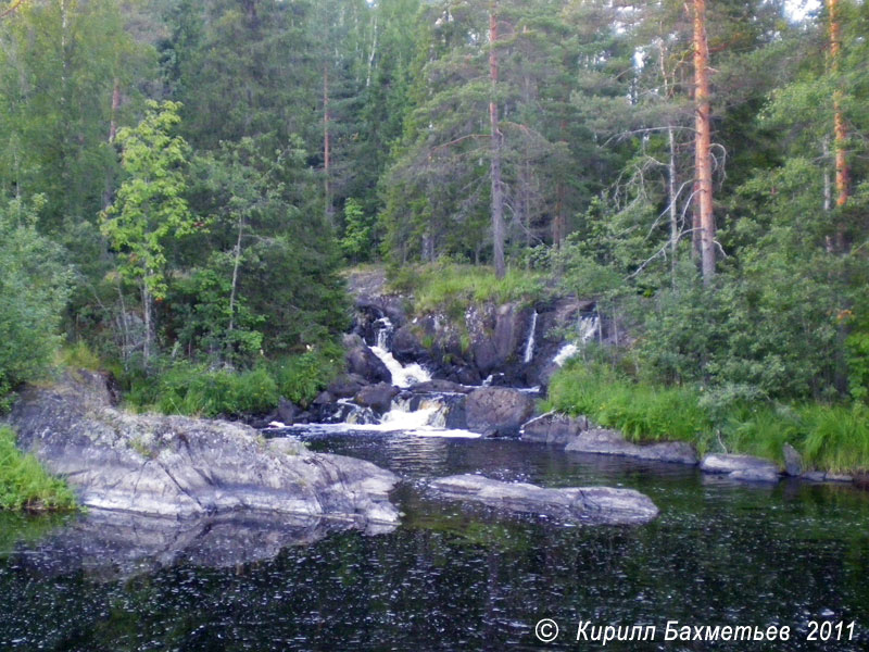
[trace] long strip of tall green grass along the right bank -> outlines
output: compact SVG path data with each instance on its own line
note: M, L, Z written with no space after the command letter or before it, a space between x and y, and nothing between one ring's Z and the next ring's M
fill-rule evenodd
M696 388L637 383L580 361L555 375L547 402L633 441L677 439L694 443L701 453L745 453L779 463L790 443L817 469L869 471L869 409L861 403L722 405Z

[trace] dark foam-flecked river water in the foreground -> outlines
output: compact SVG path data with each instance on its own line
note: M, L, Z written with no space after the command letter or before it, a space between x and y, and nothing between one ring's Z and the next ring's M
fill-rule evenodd
M7 516L0 650L869 650L868 492L740 485L518 441L360 432L308 440L405 478L394 496L402 525L286 547L241 530L250 549L273 546L257 561L112 549L85 563L80 543L63 541L71 527L80 539L87 521ZM546 487L630 487L660 517L570 527L424 494L424 478L476 472ZM559 628L552 642L536 636L543 618ZM668 641L669 620L789 627L790 637ZM578 641L583 622L654 626L654 640Z

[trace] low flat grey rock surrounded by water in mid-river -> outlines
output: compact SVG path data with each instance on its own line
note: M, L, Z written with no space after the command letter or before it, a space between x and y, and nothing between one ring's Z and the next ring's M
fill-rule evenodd
M429 484L437 496L476 501L508 512L552 516L588 524L648 523L658 509L633 489L567 487L544 489L527 482L502 482L478 475L439 478Z

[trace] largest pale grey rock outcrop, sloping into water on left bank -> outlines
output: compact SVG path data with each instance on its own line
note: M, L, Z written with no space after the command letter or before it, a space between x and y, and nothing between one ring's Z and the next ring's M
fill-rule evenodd
M91 510L176 519L249 510L358 527L399 519L388 471L266 441L240 424L114 410L95 376L27 388L10 415L21 448Z

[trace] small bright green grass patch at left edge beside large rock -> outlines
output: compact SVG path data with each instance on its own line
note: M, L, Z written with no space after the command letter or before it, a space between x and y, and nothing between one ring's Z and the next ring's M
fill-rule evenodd
M46 473L33 455L15 447L15 432L0 427L0 510L73 511L66 482Z

